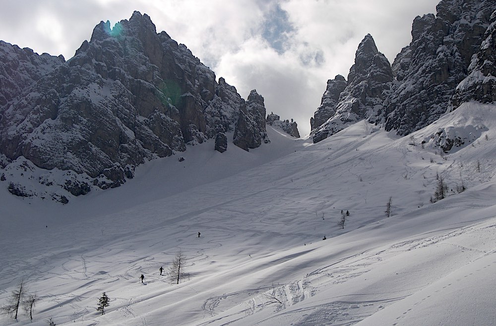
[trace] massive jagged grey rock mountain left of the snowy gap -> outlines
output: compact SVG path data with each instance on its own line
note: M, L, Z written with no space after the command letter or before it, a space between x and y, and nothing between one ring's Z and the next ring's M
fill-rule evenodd
M245 103L224 79L217 83L186 46L157 34L146 14L134 12L113 28L101 22L65 63L48 55L31 62L30 74L4 65L0 71L3 79L25 79L22 87L2 88L0 161L6 170L28 162L68 171L72 179L61 186L73 195L120 186L135 166L233 131L241 116L253 120L249 132L256 136L237 128L239 139L267 139L263 98L250 94Z

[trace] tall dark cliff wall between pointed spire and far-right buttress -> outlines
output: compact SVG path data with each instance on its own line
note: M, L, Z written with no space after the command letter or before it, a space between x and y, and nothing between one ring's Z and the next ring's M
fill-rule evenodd
M415 18L412 42L393 64L398 83L387 97L386 130L407 135L446 112L495 10L493 0L442 0L437 15Z

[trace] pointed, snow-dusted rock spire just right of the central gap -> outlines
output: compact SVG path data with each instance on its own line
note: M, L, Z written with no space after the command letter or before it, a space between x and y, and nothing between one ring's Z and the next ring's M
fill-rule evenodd
M315 128L311 132L313 142L318 142L333 135L347 126L368 118L372 121L379 121L384 111L383 102L393 80L393 72L386 57L377 50L372 36L367 35L360 43L355 55L355 64L351 67L348 74L348 84L339 94L338 101L331 109L334 103L335 94L343 85L341 76L337 76L334 83L328 83L326 93L332 96L324 96L322 105L324 109L315 112L313 125ZM335 89L329 90L329 86ZM326 108L325 108L326 107ZM326 115L320 116L320 112L334 114L323 124L317 125L316 117L325 118ZM318 113L318 114L317 114Z

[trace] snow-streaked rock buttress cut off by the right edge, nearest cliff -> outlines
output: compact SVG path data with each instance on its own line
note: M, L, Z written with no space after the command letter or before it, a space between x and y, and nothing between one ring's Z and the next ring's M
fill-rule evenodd
M469 74L456 87L448 111L470 100L481 103L496 101L496 10L491 15L479 51L472 57Z

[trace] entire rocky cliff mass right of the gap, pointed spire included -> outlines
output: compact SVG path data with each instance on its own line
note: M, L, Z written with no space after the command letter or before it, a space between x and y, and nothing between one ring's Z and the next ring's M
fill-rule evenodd
M415 18L412 42L396 56L390 69L385 57L377 52L375 45L372 46L372 37L362 41L346 89L340 93L335 105L331 96L326 95L330 93L328 83L322 105L311 122L310 135L314 142L359 119L368 119L387 131L407 135L437 120L448 106L456 106L464 100L467 95L461 95L461 91L455 94L455 89L469 74L472 56L479 51L483 41L490 38L484 33L495 3L494 0L442 0L436 10L435 16L427 14ZM467 81L459 89L466 89L481 76L488 77L493 69L491 60L486 59L491 52L490 42L484 42L485 53L479 52L478 63L472 61L472 65L484 65L484 68L470 68L472 82ZM479 87L477 96L490 100L492 84L486 83ZM337 86L331 87L334 93L339 91ZM324 104L324 98L329 105ZM319 124L333 111L332 117Z

